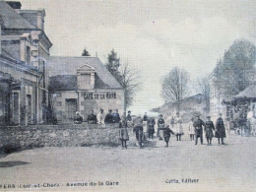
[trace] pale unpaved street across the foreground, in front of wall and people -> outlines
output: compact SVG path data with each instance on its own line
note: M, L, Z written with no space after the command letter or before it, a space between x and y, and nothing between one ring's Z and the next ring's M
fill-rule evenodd
M28 186L30 190L39 186L41 190L62 191L256 190L256 138L230 135L225 146L219 146L217 139L213 146L195 146L188 137L181 142L174 139L171 137L169 148L156 138L142 150L131 146L127 150L74 147L14 153L0 159L0 190L14 190L4 189L4 184L25 191ZM98 181L103 185L98 186ZM90 186L91 182L96 186ZM74 183L88 185L67 186Z

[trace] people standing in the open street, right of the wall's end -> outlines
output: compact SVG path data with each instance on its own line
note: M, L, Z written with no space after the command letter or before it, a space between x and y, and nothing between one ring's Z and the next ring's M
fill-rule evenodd
M147 125L147 133L149 139L153 139L155 134L155 125L158 125L158 132L157 137L160 138L160 140L164 140L166 143L165 147L168 147L169 138L170 135L175 135L177 141L181 141L181 136L184 135L183 132L183 121L180 117L179 112L176 113L175 117L172 117L169 122L165 124L164 119L162 118L162 115L160 114L158 122L156 123L155 119L153 117L148 117L147 113L145 113L144 117L141 116L135 117L133 120L131 118L131 111L128 112L128 115L126 117L123 117L125 119L126 123L125 126L120 126L121 132L123 133L125 130L125 134L121 135L120 139L122 141L122 146L127 148L126 146L126 139L129 138L128 136L128 123L131 122L131 125L133 127L133 132L136 134L136 139L139 143L139 147L142 148L142 143L144 140L144 133L143 133L143 125L144 122L146 122ZM129 119L129 120L128 120ZM212 139L214 137L218 138L219 144L224 145L224 138L225 138L225 128L224 128L224 120L222 118L222 113L219 114L219 118L217 119L216 125L211 120L211 116L207 117L207 120L204 122L200 115L195 115L195 118L191 118L191 121L188 124L188 131L190 134L190 140L195 141L195 145L198 144L198 139L200 138L201 144L203 144L203 128L205 131L205 137L207 139L207 145L212 145ZM123 136L126 136L125 138ZM125 142L125 145L123 145L123 142Z

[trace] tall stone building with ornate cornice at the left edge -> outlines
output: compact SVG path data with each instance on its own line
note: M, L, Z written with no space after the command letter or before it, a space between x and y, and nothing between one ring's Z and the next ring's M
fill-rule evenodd
M52 43L44 32L44 10L21 10L0 0L1 124L46 122L47 58Z

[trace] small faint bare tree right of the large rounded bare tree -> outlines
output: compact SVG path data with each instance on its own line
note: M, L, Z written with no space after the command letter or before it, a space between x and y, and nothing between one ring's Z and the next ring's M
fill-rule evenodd
M204 100L206 102L206 111L210 110L210 80L209 76L205 76L197 79L196 91L199 94L204 95Z

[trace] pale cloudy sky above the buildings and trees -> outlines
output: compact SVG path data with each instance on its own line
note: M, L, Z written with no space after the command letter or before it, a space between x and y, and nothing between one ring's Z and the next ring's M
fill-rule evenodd
M102 63L114 49L140 71L142 86L130 109L160 106L161 80L173 67L196 79L210 74L233 40L253 42L255 0L21 0L45 9L51 55L81 56L86 47Z

